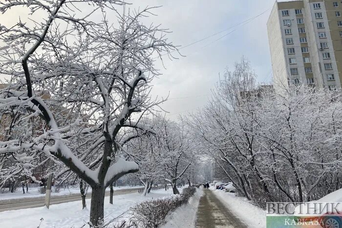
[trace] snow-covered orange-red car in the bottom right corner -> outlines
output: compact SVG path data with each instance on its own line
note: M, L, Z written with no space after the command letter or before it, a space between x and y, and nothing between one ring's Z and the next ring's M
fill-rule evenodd
M335 209L330 209L332 207L329 205L325 207L324 204L329 203L335 203ZM316 209L317 205L324 209L322 211ZM304 206L297 206L294 216L301 223L319 224L323 228L342 228L342 188L319 200L307 202Z

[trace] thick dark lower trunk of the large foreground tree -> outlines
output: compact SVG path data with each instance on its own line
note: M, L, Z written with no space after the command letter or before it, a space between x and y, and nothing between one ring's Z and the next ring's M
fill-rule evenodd
M105 190L104 186L92 187L90 205L90 223L92 226L103 224Z

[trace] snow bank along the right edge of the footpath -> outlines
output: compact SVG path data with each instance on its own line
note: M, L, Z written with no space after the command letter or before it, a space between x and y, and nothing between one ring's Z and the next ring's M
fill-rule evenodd
M235 193L224 192L210 188L218 199L222 201L249 228L266 227L266 211L252 205L245 197L237 197Z

